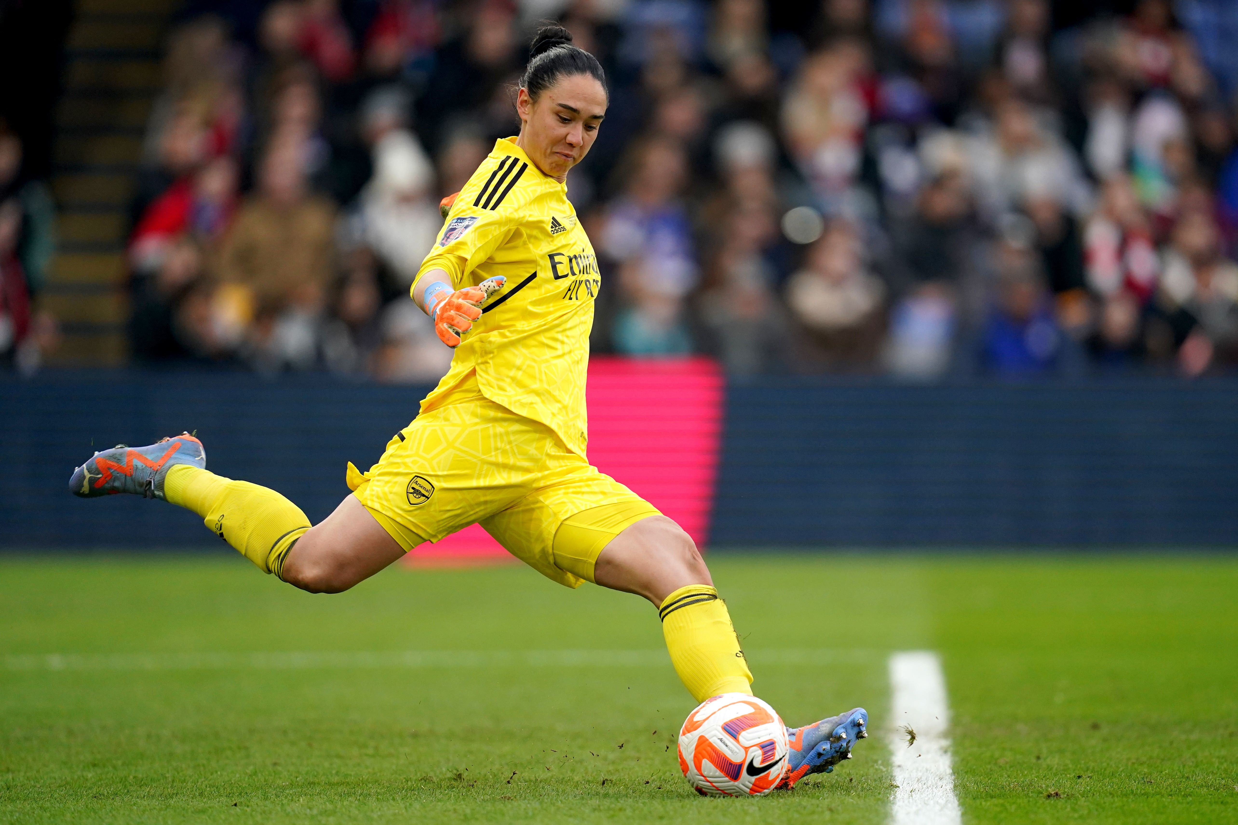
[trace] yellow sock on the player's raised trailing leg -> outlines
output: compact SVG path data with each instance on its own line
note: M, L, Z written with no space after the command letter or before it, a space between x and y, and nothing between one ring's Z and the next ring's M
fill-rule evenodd
M301 508L274 490L188 464L177 464L167 471L163 495L173 505L202 516L210 532L264 573L280 575L288 550L310 529L310 519Z

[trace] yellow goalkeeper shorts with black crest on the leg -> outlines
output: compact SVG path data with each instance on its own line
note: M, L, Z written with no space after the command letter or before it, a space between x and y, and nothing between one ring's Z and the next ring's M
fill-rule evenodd
M480 523L568 588L593 580L612 538L660 515L550 427L483 396L475 378L417 416L368 472L349 464L348 486L406 552Z

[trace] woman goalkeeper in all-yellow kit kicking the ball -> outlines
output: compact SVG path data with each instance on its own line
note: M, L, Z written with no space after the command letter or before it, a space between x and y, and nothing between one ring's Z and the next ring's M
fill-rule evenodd
M311 526L266 487L206 469L191 435L97 453L71 489L163 498L266 573L339 592L422 542L480 523L569 588L593 581L649 599L671 662L697 701L750 694L751 674L701 554L673 521L586 460L584 381L600 275L565 179L609 101L597 59L543 26L520 80L520 134L495 142L457 195L412 287L456 348L421 413L353 491ZM863 738L855 709L789 730L791 785L831 769ZM842 733L847 735L842 735Z

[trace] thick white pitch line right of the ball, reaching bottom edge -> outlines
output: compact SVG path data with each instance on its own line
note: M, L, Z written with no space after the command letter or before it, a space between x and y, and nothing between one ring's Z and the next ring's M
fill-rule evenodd
M950 764L950 704L946 677L936 653L912 651L890 657L894 693L894 825L958 825L962 819L954 798L954 773ZM907 746L904 726L916 732Z

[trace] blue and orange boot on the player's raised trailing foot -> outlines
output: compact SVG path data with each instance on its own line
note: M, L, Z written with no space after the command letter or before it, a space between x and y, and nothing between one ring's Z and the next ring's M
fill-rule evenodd
M82 498L131 492L163 500L163 479L177 464L206 469L207 451L202 448L202 442L182 433L176 438L160 439L150 447L116 444L110 450L95 453L73 470L69 490Z

